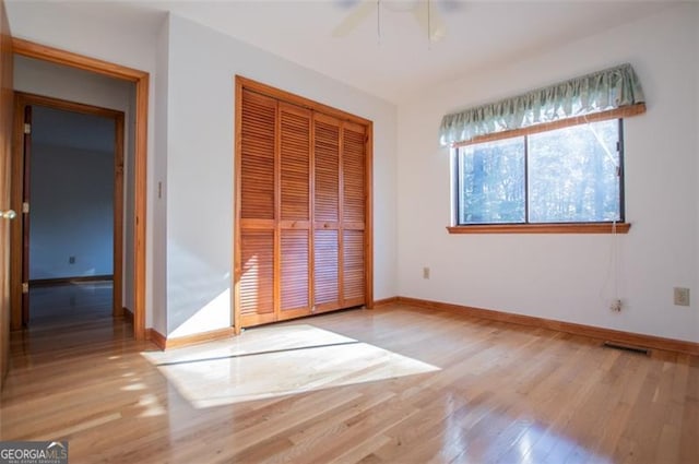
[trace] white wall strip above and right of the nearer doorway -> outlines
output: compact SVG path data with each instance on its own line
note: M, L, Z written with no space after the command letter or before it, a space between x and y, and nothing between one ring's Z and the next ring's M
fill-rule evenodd
M162 13L147 13L146 10L141 10L138 15L119 22L116 16L109 14L111 7L105 2L91 5L84 2L71 4L69 2L12 0L7 1L5 7L14 37L131 67L145 71L151 75L147 121L149 194L146 199L145 243L145 325L150 328L153 325L154 308L165 308L166 306L165 294L156 294L153 288L153 245L165 240L164 236L155 235L156 231L162 230L153 227L155 215L159 209L159 204L155 202L157 192L155 190L157 188L155 179L162 179L165 175L156 170L156 167L159 168L162 166L155 163L155 157L159 153L155 152L153 130L155 88L158 82L158 76L155 74L156 36L165 15ZM85 12L88 12L88 14ZM21 86L21 83L16 81L16 76L15 86ZM71 99L69 97L63 98ZM98 105L96 103L91 104ZM125 225L125 227L127 226ZM125 266L125 269L128 269L128 266ZM125 283L127 281L125 279ZM129 295L126 295L125 305L132 305L129 300ZM131 306L130 309L133 309L133 307Z

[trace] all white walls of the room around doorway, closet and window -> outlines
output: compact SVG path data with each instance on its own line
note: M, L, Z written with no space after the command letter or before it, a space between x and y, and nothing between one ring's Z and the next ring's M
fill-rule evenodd
M8 3L16 37L151 73L146 326L178 336L232 322L233 79L239 73L375 121L377 299L404 295L689 341L699 341L697 9L679 5L425 88L396 111L180 17L168 28L139 28L85 19L61 2ZM625 61L640 75L649 110L625 126L633 226L619 237L626 307L617 314L607 309L609 236L446 233L449 155L437 146L437 128L446 112ZM158 181L167 199L157 199ZM424 265L431 267L429 281L422 278ZM692 289L689 309L672 305L673 286Z

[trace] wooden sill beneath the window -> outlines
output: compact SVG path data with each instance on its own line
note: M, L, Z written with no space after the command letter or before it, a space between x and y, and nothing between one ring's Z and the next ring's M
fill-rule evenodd
M449 234L613 234L611 223L599 224L487 224L447 227ZM617 223L617 234L628 234L630 223Z

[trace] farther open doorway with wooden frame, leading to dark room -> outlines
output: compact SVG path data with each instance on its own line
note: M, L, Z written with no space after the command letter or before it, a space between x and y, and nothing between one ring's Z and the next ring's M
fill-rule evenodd
M90 308L121 316L123 112L23 93L15 108L24 118L23 325L80 320Z

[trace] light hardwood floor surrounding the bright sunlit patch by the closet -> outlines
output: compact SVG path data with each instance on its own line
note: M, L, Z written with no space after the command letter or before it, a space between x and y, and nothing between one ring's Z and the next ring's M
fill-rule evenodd
M87 289L13 334L1 440L68 440L71 463L699 462L698 357L391 306L301 322L439 370L202 407Z

